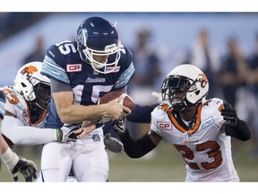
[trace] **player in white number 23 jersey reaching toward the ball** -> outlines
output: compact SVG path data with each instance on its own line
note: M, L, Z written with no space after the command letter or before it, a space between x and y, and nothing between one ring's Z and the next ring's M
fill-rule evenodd
M208 91L208 79L199 68L176 66L161 87L163 101L169 102L151 112L148 133L136 140L130 137L125 121L114 123L125 153L140 158L164 138L185 160L185 181L239 181L230 140L249 140L250 129L227 101L206 100Z

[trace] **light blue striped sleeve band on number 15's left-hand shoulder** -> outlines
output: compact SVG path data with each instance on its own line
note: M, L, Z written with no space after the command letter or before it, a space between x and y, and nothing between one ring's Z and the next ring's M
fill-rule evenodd
M64 71L64 68L58 66L55 61L50 57L45 57L42 64L42 75L47 75L48 77L54 78L65 84L70 84L69 78Z

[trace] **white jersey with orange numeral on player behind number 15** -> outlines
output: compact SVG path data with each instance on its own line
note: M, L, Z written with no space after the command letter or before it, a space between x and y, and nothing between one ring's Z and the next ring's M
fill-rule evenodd
M43 112L42 116L34 123L30 121L29 104L23 96L15 91L12 87L2 88L6 96L5 111L12 113L17 119L22 121L23 126L31 126L35 128L44 128L44 122L47 112Z

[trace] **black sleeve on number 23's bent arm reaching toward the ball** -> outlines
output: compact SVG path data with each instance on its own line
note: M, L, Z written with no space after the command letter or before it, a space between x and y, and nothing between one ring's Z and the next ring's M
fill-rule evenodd
M148 133L135 140L130 137L129 131L126 129L125 133L122 134L120 138L124 144L125 153L131 158L140 158L157 146L152 143Z

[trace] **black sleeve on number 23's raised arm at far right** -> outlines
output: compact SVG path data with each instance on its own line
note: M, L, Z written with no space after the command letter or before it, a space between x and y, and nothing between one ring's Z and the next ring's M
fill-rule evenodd
M236 127L225 126L227 136L235 137L236 139L247 141L251 138L251 130L244 120L238 119Z

